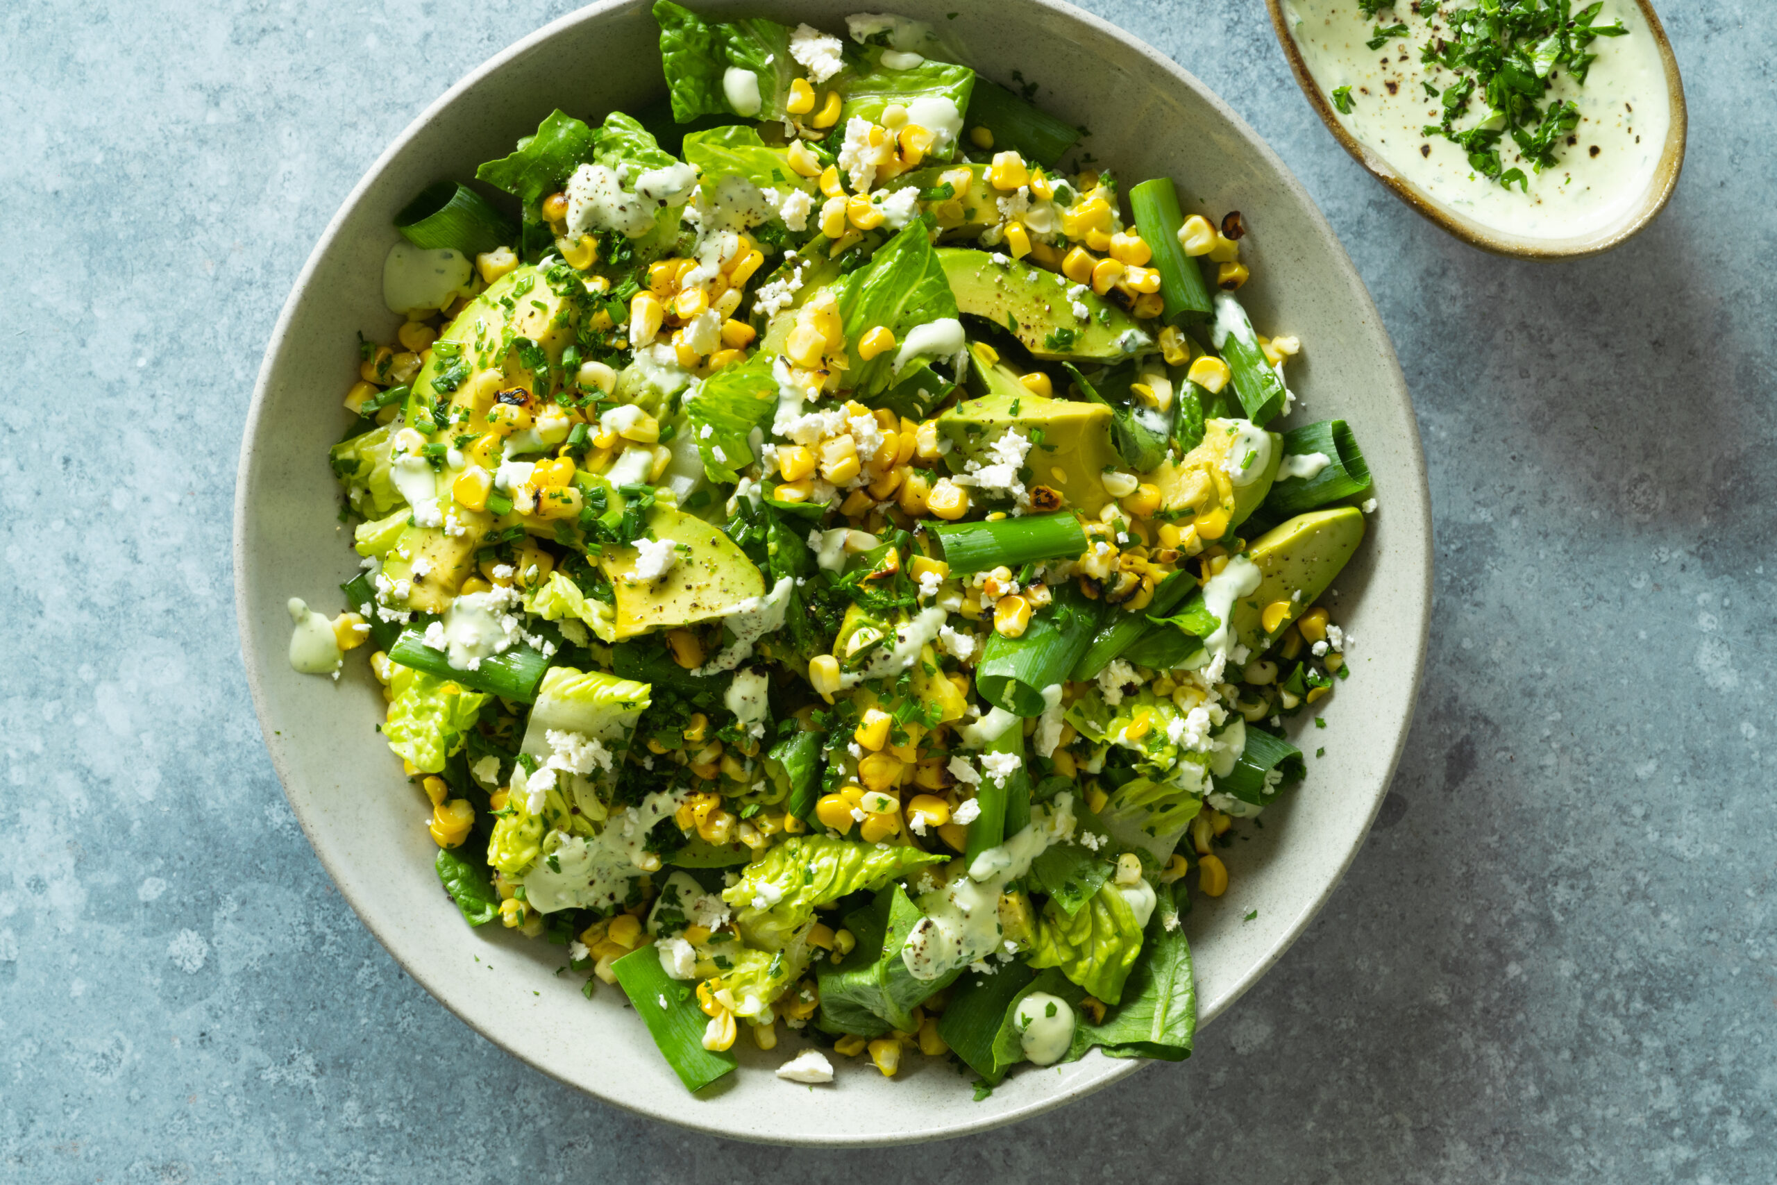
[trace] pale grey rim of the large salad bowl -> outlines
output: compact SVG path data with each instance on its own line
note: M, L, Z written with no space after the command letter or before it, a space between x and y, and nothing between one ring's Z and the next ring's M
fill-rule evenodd
M574 1080L563 1073L551 1070L549 1066L531 1061L522 1052L519 1052L498 1029L483 1027L476 1020L467 1016L457 1006L457 1002L453 1002L450 995L450 984L444 981L442 975L430 975L412 966L409 959L403 958L403 954L400 954L400 943L394 942L394 934L391 933L393 920L380 919L380 915L375 910L368 908L370 904L368 901L359 901L355 894L348 894L343 888L343 885L348 881L341 878L339 871L334 867L336 862L332 855L329 855L327 849L316 842L316 831L311 819L304 814L304 810L297 808L295 798L290 792L291 773L286 766L284 755L277 744L270 743L270 732L272 732L268 725L270 696L263 677L265 666L261 663L261 657L267 654L267 647L263 645L265 640L258 632L252 604L249 602L247 595L247 569L249 569L247 537L251 528L247 490L251 485L251 474L254 471L254 464L258 460L259 446L265 444L265 441L261 441L261 432L265 430L265 425L261 421L268 403L267 393L272 384L272 377L279 370L279 364L286 352L290 339L290 327L297 316L297 309L309 295L307 290L315 277L315 272L320 268L323 258L329 254L331 247L334 245L334 240L339 236L341 227L350 217L350 213L364 199L366 192L380 179L382 172L389 167L389 163L407 147L407 144L414 137L421 133L423 128L430 124L430 121L442 108L450 107L462 92L474 87L489 75L503 69L508 62L522 57L535 46L542 44L544 41L549 41L551 37L556 37L558 34L574 25L599 20L608 12L615 12L647 2L649 0L595 0L595 4L588 4L581 9L567 12L542 25L540 28L514 41L512 44L505 46L503 50L485 59L480 66L467 71L451 87L448 87L442 94L439 94L437 99L428 103L364 169L364 174L341 199L339 208L334 211L332 219L329 219L327 226L322 229L320 236L315 242L315 247L311 249L307 259L299 270L295 281L291 282L290 295L286 297L284 306L279 311L277 322L274 323L270 336L267 339L265 355L261 359L259 371L254 380L252 402L242 432L242 451L235 474L236 478L235 522L231 531L231 551L233 551L233 569L235 569L235 620L242 645L242 663L247 675L247 688L252 696L254 714L258 718L261 736L267 739L267 752L272 759L272 767L277 773L279 785L284 789L286 801L291 805L291 814L295 814L304 837L309 840L309 846L315 851L316 858L320 860L322 867L327 871L327 876L334 881L334 887L339 888L339 894L341 897L345 897L347 904L352 906L352 911L357 915L359 922L363 922L363 926L371 933L371 936L377 938L377 942L384 947L384 950L387 950L387 954L396 961L396 965L409 977L412 977L428 995L432 995L432 998L442 1004L446 1011L457 1016L464 1025L467 1025L473 1032L485 1038L487 1041L501 1048L515 1061L524 1062L531 1070L542 1071L544 1075L562 1082L563 1086L570 1086L578 1091L592 1094L601 1103L610 1103L624 1110L629 1110L633 1114L645 1116L649 1119L657 1119L693 1132L700 1132L705 1135L737 1139L743 1142L769 1142L778 1146L810 1146L810 1148L862 1148L862 1146L924 1142L933 1139L956 1139L963 1135L988 1132L1000 1126L1009 1126L1013 1123L1022 1123L1025 1119L1045 1114L1057 1107L1079 1101L1080 1098L1093 1094L1111 1086L1112 1082L1120 1082L1128 1075L1136 1073L1137 1070L1143 1070L1148 1062L1143 1059L1111 1059L1105 1057L1100 1050L1091 1050L1088 1054L1088 1061L1098 1062L1098 1071L1093 1077L1070 1084L1066 1091L1057 1091L1047 1098L1038 1098L1032 1100L1031 1103L1018 1105L1008 1110L992 1112L979 1119L956 1123L954 1126L945 1126L942 1132L906 1132L892 1137L848 1137L844 1133L810 1132L805 1137L796 1137L796 1139L771 1139L771 1137L750 1135L746 1132L737 1132L721 1126L718 1123L700 1123L697 1117L698 1112L695 1109L688 1110L684 1107L679 1107L675 1110L668 1110L666 1107L654 1107L649 1105L647 1101L636 1098L626 1098L618 1093L602 1093L588 1087L585 1082ZM1258 153L1260 158L1271 169L1274 169L1278 178L1283 181L1285 188L1297 199L1299 206L1308 213L1310 224L1317 231L1317 235L1335 249L1335 259L1338 265L1336 272L1343 277L1347 288L1352 293L1352 298L1358 302L1358 311L1361 314L1374 318L1381 341L1384 343L1384 362L1390 371L1391 386L1398 393L1402 403L1406 403L1406 407L1409 409L1407 432L1404 433L1404 441L1400 441L1400 446L1404 448L1404 460L1407 462L1407 467L1413 474L1411 481L1413 489L1411 490L1402 489L1398 492L1390 494L1390 513L1391 517L1411 517L1414 538L1420 540L1418 545L1420 553L1418 565L1422 572L1422 588L1418 590L1420 620L1418 620L1418 638L1414 640L1413 647L1407 707L1400 730L1393 737L1391 752L1388 753L1386 773L1383 778L1379 778L1377 785L1370 792L1370 801L1365 810L1363 826L1354 833L1351 847L1345 853L1342 853L1333 876L1317 890L1313 899L1303 903L1297 915L1292 919L1288 927L1276 938L1276 942L1265 952L1265 956L1255 961L1235 981L1231 990L1215 1002L1215 1007L1199 1013L1198 1029L1201 1030L1205 1025L1215 1020L1215 1016L1224 1013L1242 995L1246 995L1272 966L1276 966L1278 961L1281 961L1281 958L1285 956L1285 952L1288 952L1288 949L1295 945L1297 938L1301 938L1301 934L1308 929L1308 926L1320 915L1320 911L1331 899L1333 892L1343 881L1345 872L1358 858L1358 851L1363 847L1370 826L1375 823L1375 815L1381 810L1383 799L1388 796L1388 789L1393 782L1395 771L1400 766L1400 757L1406 750L1407 736L1411 734L1413 728L1418 688L1423 682L1427 645L1430 638L1434 549L1432 549L1430 489L1425 467L1425 451L1420 441L1418 425L1411 416L1411 396L1407 393L1406 377L1400 370L1400 359L1393 350L1393 343L1390 341L1386 329L1383 329L1381 313L1375 309L1375 302L1370 297L1368 288L1363 284L1363 277L1358 274L1358 268L1351 261L1351 256L1345 252L1343 243L1333 233L1333 227L1326 219L1326 213L1322 213L1320 206L1313 201L1306 187L1288 169L1288 165L1276 153L1276 149L1272 149L1271 144L1267 144L1263 137L1260 137L1251 128L1251 124L1247 124L1246 119L1242 119L1208 85L1199 82L1194 75L1185 71L1178 62L1171 60L1169 57L1166 57L1148 43L1141 41L1134 34L1091 12L1086 12L1084 9L1066 4L1066 0L1024 0L1024 4L1029 4L1031 7L1038 9L1047 9L1048 12L1057 14L1070 21L1088 25L1095 32L1104 34L1109 39L1116 41L1123 52L1144 59L1148 64L1169 75L1178 85L1194 91L1199 99L1203 99L1217 115L1221 115L1226 121L1228 128L1235 131L1235 135L1244 142L1247 149ZM1411 540L1406 540L1406 547L1411 549L1411 545L1413 545ZM281 652L279 647L272 647L272 650ZM434 982L434 979L437 979L437 982Z

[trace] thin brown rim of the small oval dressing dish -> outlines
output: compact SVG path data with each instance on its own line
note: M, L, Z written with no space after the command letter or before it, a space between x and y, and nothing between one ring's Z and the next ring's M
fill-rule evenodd
M1409 210L1423 217L1427 222L1436 226L1455 238L1461 238L1471 247L1480 247L1496 256L1510 256L1514 259L1537 259L1537 261L1558 261L1558 259L1585 259L1587 256L1598 256L1622 243L1630 242L1653 222L1667 203L1672 199L1672 190L1677 188L1677 178L1685 171L1685 146L1690 135L1690 114L1685 107L1685 78L1677 68L1677 57L1672 53L1672 43L1667 39L1665 25L1660 23L1660 14L1654 12L1653 0L1635 0L1640 7L1642 18L1647 21L1649 32L1654 36L1654 46L1660 52L1660 66L1667 80L1667 103L1670 107L1672 117L1667 124L1665 146L1660 149L1660 160L1654 162L1653 185L1647 187L1642 195L1642 204L1637 213L1617 226L1605 227L1592 235L1578 235L1573 238L1530 238L1523 235L1510 235L1505 231L1496 231L1486 227L1471 219L1459 215L1439 201L1432 201L1422 194L1416 187L1404 181L1395 169L1383 160L1377 153L1372 153L1365 144L1354 137L1327 103L1326 94L1315 84L1313 71L1308 69L1308 62L1303 59L1301 48L1295 44L1295 37L1290 34L1288 20L1283 16L1283 0L1265 0L1265 9L1271 12L1271 28L1278 36L1278 44L1283 46L1283 57L1290 64L1290 73L1295 76L1295 85L1301 87L1303 94L1308 98L1308 105L1320 115L1320 123L1327 126L1333 139L1338 140L1340 147L1351 153L1351 158L1363 165L1370 176L1388 187L1388 190L1404 201Z

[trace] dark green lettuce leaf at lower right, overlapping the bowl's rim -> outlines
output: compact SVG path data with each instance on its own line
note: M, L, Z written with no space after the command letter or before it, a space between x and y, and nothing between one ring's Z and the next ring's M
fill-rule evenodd
M1175 890L1176 892L1176 890ZM1100 997L1104 998L1104 997ZM1173 892L1160 890L1141 956L1123 982L1123 1000L1102 1023L1082 1016L1068 1059L1098 1046L1109 1057L1183 1061L1198 1029L1198 990L1191 972L1191 942L1178 924Z

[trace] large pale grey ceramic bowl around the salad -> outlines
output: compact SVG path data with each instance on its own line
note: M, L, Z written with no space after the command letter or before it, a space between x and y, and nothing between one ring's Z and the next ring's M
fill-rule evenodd
M741 9L727 0L698 7ZM1430 609L1430 506L1400 366L1308 194L1178 66L1052 0L894 7L944 28L1002 80L1009 64L1022 64L1043 84L1043 105L1089 126L1088 147L1120 176L1169 174L1187 208L1217 217L1240 210L1251 227L1244 247L1253 281L1242 297L1253 320L1301 336L1292 384L1306 416L1351 421L1375 474L1381 510L1338 583L1338 616L1358 638L1354 670L1326 702L1327 730L1311 736L1333 757L1310 759L1308 783L1267 812L1251 842L1230 849L1231 888L1219 901L1199 901L1187 922L1208 1022L1283 956L1326 903L1363 842L1407 736ZM958 9L947 21L945 12ZM782 0L746 11L842 32L851 9ZM922 1057L910 1057L896 1080L839 1059L833 1086L791 1086L771 1073L794 1048L785 1041L773 1054L743 1050L739 1073L707 1096L689 1096L617 988L601 984L588 1002L581 977L554 975L562 947L498 926L464 926L434 878L419 794L375 730L384 705L363 657L348 661L338 684L299 675L284 657L284 600L338 606L334 586L354 570L327 448L345 423L339 400L357 368L354 332L389 339L396 327L380 282L384 252L396 240L391 217L426 183L469 178L476 163L510 151L554 107L597 121L661 94L656 36L647 4L599 4L489 60L371 165L297 279L265 352L235 505L242 652L272 764L316 855L371 933L446 1007L544 1073L647 1116L748 1141L887 1144L1025 1119L1141 1062L1091 1054L1059 1073L1015 1073L974 1103L967 1077ZM1242 922L1253 910L1258 917Z

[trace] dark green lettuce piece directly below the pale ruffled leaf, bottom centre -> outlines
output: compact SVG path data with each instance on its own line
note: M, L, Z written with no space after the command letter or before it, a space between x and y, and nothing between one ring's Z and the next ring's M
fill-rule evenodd
M821 1022L825 1029L878 1038L890 1029L913 1029L913 1009L935 991L949 986L963 968L938 979L915 979L906 970L901 947L913 926L926 917L899 885L888 885L876 899L846 915L858 943L851 954L821 965Z

